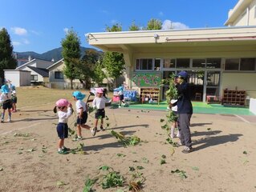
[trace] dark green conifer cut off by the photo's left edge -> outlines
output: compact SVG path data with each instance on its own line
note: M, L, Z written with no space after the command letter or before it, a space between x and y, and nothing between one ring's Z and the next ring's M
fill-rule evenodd
M13 46L10 42L10 35L5 28L0 30L0 78L4 81L3 70L14 70L17 60L13 57Z

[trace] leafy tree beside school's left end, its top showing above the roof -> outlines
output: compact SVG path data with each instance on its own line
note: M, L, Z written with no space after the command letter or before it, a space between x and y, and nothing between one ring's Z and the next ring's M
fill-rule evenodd
M118 23L113 25L112 27L107 26L106 30L108 32L121 31L122 26ZM117 52L106 52L103 58L104 66L106 67L108 77L115 79L116 86L116 78L119 78L121 74L124 73L124 54Z

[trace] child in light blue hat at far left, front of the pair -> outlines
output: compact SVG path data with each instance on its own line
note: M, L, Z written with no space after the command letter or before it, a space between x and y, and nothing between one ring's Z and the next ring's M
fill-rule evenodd
M10 89L9 86L6 84L1 87L2 94L0 95L0 102L2 103L2 118L1 122L4 122L6 110L8 109L8 114L9 118L7 122L11 122L11 112L10 109L12 108L12 103L11 103L11 94L10 94Z

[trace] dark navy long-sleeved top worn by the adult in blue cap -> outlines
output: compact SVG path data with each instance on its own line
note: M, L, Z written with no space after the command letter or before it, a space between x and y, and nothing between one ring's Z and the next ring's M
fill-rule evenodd
M178 92L177 113L193 114L193 106L190 100L189 83L182 82L176 86Z

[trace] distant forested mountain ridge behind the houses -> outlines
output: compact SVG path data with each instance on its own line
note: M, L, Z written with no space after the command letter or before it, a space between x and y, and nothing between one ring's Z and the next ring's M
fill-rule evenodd
M39 58L39 59L43 59L43 60L46 60L46 61L51 61L52 59L55 59L55 62L57 62L61 58L63 58L63 56L61 54L62 50L63 50L63 48L59 47L59 48L56 48L54 50L49 50L49 51L47 51L43 54L38 54L38 53L35 53L33 51L14 52L14 54L17 54L17 58L27 59L30 56L32 59L33 58ZM81 50L81 54L82 54L82 57L83 57L85 50L95 50L95 49L81 46L80 50ZM102 53L100 50L96 50L96 51Z

